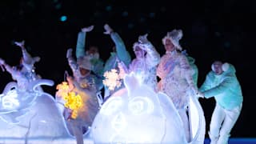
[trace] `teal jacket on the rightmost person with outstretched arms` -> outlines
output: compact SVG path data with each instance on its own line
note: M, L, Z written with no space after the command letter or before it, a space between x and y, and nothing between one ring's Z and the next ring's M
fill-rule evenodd
M217 75L210 71L199 89L205 98L214 97L218 105L231 110L242 104L242 90L235 75L234 66L229 64L228 70Z

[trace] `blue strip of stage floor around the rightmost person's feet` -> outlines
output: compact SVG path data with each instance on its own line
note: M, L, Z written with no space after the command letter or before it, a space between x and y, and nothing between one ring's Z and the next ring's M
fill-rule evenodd
M206 138L204 144L210 144L210 139ZM230 138L229 144L256 144L256 138Z

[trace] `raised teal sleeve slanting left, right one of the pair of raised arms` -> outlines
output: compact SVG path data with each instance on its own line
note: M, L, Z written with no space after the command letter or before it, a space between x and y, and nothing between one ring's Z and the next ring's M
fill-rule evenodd
M130 54L126 50L126 46L125 46L124 42L122 41L122 38L120 38L119 34L116 33L116 32L112 32L110 34L110 36L111 36L111 38L114 41L114 44L116 46L116 50L117 50L119 60L124 62L126 64L126 66L128 66L130 61L131 61L130 60Z

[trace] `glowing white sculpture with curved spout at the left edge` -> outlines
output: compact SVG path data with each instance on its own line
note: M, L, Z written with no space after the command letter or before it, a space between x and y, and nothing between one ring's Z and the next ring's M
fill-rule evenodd
M38 91L42 85L54 82L38 79L26 91L18 90L16 82L6 85L0 94L0 143L75 143L53 96Z

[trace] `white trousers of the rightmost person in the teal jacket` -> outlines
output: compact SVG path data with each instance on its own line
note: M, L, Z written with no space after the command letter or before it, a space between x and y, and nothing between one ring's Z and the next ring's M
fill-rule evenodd
M225 110L216 103L214 113L210 121L210 143L227 144L230 137L230 131L233 128L241 112L241 106L233 110Z

